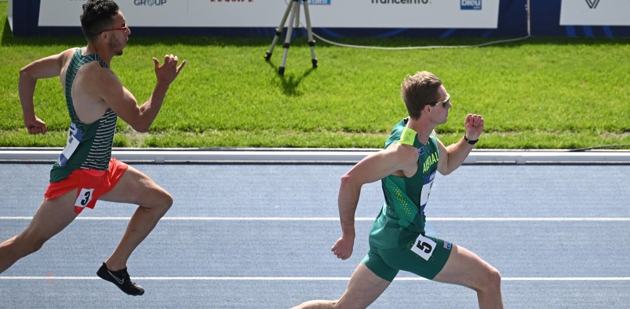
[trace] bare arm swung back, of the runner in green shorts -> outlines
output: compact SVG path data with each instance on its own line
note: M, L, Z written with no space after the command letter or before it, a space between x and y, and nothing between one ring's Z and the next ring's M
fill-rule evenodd
M341 238L331 248L339 259L352 256L355 239L355 211L361 187L383 177L413 176L418 169L418 149L411 145L393 143L386 149L368 155L341 177L338 204Z

